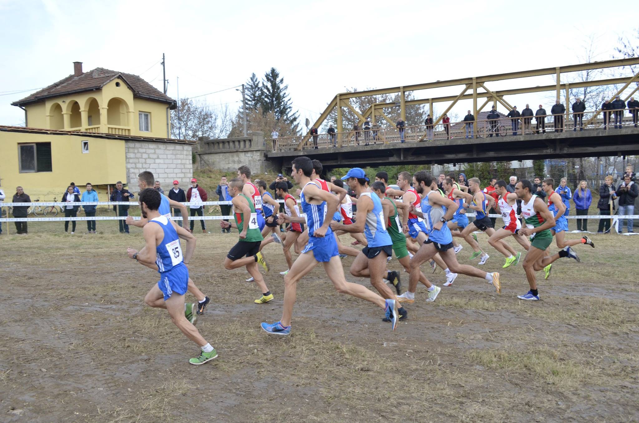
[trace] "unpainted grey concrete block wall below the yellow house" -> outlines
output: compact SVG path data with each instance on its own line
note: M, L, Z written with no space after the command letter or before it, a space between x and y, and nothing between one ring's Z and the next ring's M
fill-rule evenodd
M173 181L180 181L181 188L189 187L193 176L193 146L177 142L127 141L125 145L127 183L137 190L137 175L151 171L167 192Z

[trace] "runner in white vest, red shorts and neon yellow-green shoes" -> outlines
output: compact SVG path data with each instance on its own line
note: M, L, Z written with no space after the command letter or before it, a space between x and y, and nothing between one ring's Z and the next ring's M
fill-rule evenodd
M515 240L520 243L521 247L528 251L530 249L530 242L527 238L520 234L521 221L517 219L515 213L517 194L514 192L508 192L506 189L506 181L499 180L495 183L495 194L498 196L496 210L502 214L502 220L504 220L504 227L500 227L488 238L488 243L494 245L499 240L506 238L507 236L514 236ZM513 207L514 206L514 207ZM502 268L507 268L510 265L518 265L521 258L521 252L517 252L515 256L506 258L506 263Z

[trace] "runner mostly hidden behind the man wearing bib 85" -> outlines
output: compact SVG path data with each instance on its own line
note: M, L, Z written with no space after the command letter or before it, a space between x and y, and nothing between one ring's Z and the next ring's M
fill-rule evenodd
M154 185L155 185L155 176L153 176L152 172L143 171L137 175L137 186L140 188L140 191L146 188L153 188ZM177 228L179 225L176 224L174 220L171 220L171 208L179 208L182 216L184 217L184 222L182 224L183 227L185 228L189 227L189 217L188 217L189 213L187 213L187 206L185 206L182 203L178 203L177 201L173 201L172 199L169 199L169 197L165 196L164 194L160 194L160 196L162 196L160 197L160 207L158 208L160 215L165 216L167 219L169 219L169 221L173 224L173 226ZM147 224L147 222L148 222L148 219L146 219L144 216L140 217L139 220L134 220L133 217L131 216L127 217L127 225L144 227ZM182 236L180 236L180 238L182 238L183 240L186 240L186 238L183 238ZM190 256L186 260L187 261L184 264L188 266L190 261ZM202 291L200 291L197 288L196 284L191 280L190 277L189 277L189 292L192 293L192 295L194 295L197 298L196 314L203 314L204 309L206 309L206 306L211 302L211 298L204 295ZM187 316L187 319L189 319L189 321L194 321L195 316L192 315L193 309L190 306L191 306L190 304L187 304L185 315Z

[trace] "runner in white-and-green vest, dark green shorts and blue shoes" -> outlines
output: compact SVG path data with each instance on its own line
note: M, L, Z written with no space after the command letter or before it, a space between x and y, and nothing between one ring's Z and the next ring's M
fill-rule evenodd
M526 227L522 227L520 233L523 236L530 236L530 249L523 261L523 268L526 271L530 291L524 295L518 295L517 298L538 301L539 291L537 291L535 272L542 270L561 257L569 257L575 260L578 260L578 258L570 247L566 247L550 257L546 256L546 249L553 242L553 235L549 229L555 226L555 217L548 210L548 206L546 206L543 199L532 195L532 192L532 183L526 179L519 181L515 185L515 194L521 199L521 217L526 222Z

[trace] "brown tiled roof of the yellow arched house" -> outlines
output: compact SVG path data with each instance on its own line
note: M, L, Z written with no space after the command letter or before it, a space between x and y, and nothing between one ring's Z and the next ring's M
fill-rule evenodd
M40 91L36 91L35 93L22 98L22 100L13 102L12 105L38 103L50 97L102 89L102 87L117 77L125 81L128 88L133 91L133 95L136 97L168 103L172 105L172 109L174 108L173 105L176 105L173 98L165 95L157 88L144 81L141 77L132 75L131 73L117 72L105 68L95 68L94 70L89 70L89 72L84 72L77 76L69 75L64 79L41 89Z

